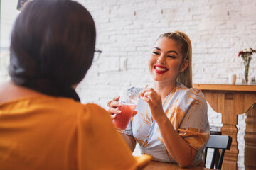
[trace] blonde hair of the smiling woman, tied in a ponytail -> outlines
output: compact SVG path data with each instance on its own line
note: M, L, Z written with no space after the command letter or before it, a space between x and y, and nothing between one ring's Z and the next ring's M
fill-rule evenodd
M164 33L159 36L159 38L164 38L164 37L170 38L171 40L174 40L178 45L180 45L183 62L186 62L186 60L188 60L188 67L184 70L184 72L181 72L180 74L178 74L176 81L179 81L185 86L187 86L188 88L191 88L193 86L191 40L188 38L188 35L186 35L186 33L183 33L177 30L172 33ZM157 40L159 40L159 38Z

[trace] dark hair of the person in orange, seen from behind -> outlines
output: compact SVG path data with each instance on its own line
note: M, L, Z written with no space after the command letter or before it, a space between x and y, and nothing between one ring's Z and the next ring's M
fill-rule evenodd
M95 38L92 16L78 2L30 1L11 33L11 79L44 94L79 101L71 86L90 68Z

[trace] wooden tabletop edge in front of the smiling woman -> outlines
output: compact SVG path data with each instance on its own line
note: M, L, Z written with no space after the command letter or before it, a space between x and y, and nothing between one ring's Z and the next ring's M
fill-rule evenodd
M144 170L207 170L199 166L191 166L186 169L180 168L178 164L151 161Z

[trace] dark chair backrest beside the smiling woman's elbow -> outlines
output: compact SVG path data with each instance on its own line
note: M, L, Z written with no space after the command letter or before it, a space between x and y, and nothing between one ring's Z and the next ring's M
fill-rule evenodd
M225 150L230 150L231 142L232 137L228 135L210 135L208 143L206 144L206 149L204 151L204 163L206 164L207 149L212 148L213 157L210 163L210 169L214 168L215 163L217 163L215 168L221 169ZM216 160L216 155L219 155L219 150L221 150L221 154L219 159Z

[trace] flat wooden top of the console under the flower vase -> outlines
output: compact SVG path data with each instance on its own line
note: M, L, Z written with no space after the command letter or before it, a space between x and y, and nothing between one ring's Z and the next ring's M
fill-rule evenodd
M201 90L219 90L219 91L255 91L256 85L247 84L193 84L194 87Z

